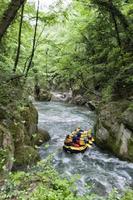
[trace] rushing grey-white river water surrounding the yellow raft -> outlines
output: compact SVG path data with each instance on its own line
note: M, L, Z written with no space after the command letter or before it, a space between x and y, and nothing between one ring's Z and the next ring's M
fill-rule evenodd
M62 149L65 136L77 127L93 128L95 113L85 107L59 102L36 102L39 112L39 127L50 133L51 140L41 146L44 159L53 154L53 165L63 177L75 175L79 194L84 194L86 185L93 185L92 191L103 196L117 188L122 191L133 187L133 163L102 152L98 147L81 154L68 154Z

